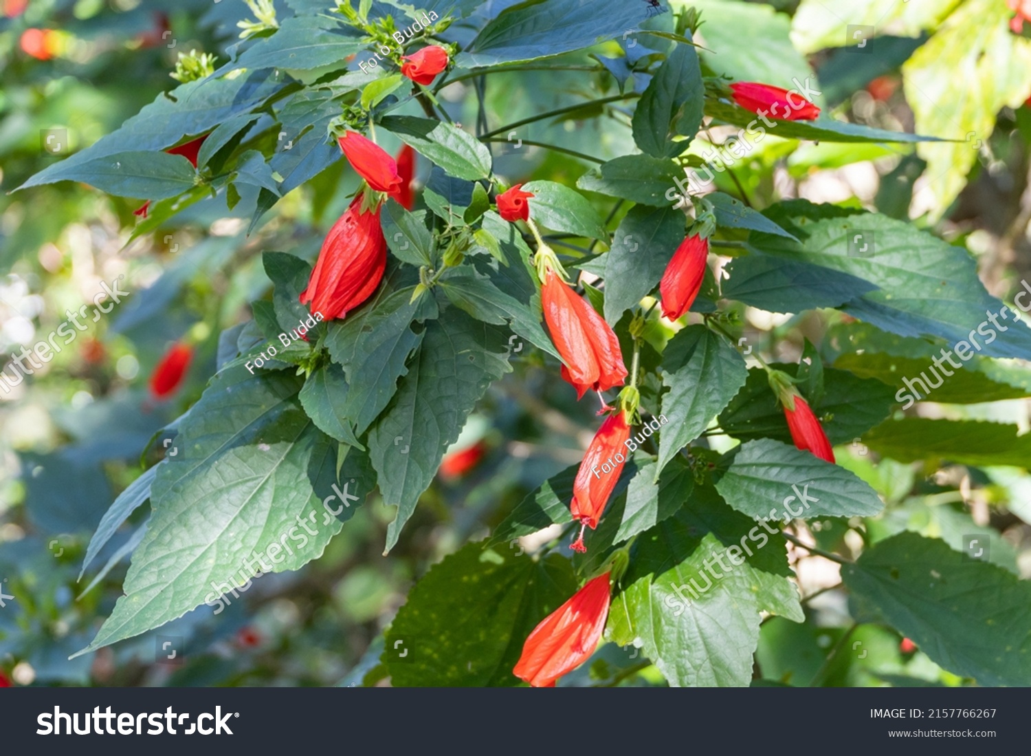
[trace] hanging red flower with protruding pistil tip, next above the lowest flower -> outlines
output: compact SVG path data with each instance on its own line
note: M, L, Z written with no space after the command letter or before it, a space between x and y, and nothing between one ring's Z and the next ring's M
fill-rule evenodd
M612 495L612 489L623 472L623 465L626 464L629 438L630 426L620 410L605 419L591 440L591 446L587 448L584 461L576 470L573 501L569 507L573 520L580 523L579 537L569 547L573 551L587 551L584 546L584 528L588 525L592 530L598 527L601 513L604 512L608 497Z

